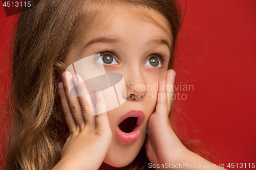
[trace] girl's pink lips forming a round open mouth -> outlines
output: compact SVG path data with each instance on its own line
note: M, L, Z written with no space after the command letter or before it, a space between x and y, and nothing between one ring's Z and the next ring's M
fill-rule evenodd
M117 126L116 135L119 138L119 140L121 140L122 142L132 143L132 142L135 142L136 140L138 140L140 137L141 124L143 123L143 121L145 119L145 114L141 110L131 110L131 111L127 112L126 114L124 114L120 118L118 125L127 117L138 117L138 120L137 120L134 130L130 133L125 133L120 130L119 126Z

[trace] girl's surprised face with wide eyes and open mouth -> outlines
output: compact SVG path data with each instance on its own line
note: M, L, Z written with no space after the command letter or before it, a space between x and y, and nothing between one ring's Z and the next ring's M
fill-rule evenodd
M127 100L108 111L112 141L104 159L109 165L122 167L135 159L145 141L147 122L156 107L158 82L166 79L172 41L167 19L157 12L148 11L167 33L134 10L109 10L112 14L108 16L98 15L92 29L71 48L65 62L70 65L101 53L105 71L123 75ZM127 118L119 126L125 116L138 118Z

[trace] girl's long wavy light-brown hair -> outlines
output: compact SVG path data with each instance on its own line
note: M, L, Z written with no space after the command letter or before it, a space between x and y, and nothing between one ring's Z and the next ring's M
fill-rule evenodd
M41 0L19 15L14 29L9 95L11 135L6 170L51 169L60 160L65 121L56 111L59 105L55 95L66 68L63 60L82 32L90 28L97 13L102 12L102 7L118 3L164 15L170 24L173 48L181 24L176 1ZM173 67L173 62L172 54L168 68ZM146 169L146 163L142 148L130 168Z

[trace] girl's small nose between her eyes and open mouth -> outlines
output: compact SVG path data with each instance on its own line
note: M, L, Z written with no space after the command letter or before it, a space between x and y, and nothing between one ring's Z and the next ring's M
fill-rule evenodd
M137 72L134 74L133 71L127 75L126 79L126 93L128 100L144 100L147 90L146 83L143 79L143 75L141 72Z

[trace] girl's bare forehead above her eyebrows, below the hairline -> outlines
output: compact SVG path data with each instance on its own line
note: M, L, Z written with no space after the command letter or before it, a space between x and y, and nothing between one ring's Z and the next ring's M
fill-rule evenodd
M165 36L171 43L169 22L155 10L129 5L105 5L100 8L90 29L83 30L86 39L105 35L136 36L147 31L151 36Z

